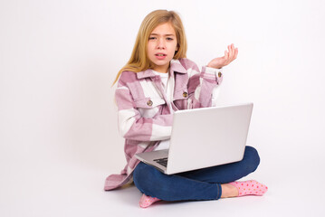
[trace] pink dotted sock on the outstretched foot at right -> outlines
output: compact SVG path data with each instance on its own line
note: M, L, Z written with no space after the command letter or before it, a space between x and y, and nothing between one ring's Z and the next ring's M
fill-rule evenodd
M244 182L233 182L230 183L234 185L238 189L238 196L244 195L258 195L262 196L267 192L267 186L264 184L260 184L255 180L249 180Z

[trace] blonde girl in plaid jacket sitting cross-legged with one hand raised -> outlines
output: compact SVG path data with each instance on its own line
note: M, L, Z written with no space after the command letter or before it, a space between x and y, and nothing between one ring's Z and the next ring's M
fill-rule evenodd
M177 175L164 175L135 157L137 153L168 147L174 111L215 106L223 80L222 68L234 61L237 53L231 44L225 56L215 58L199 71L195 62L186 59L186 35L180 17L166 10L146 16L132 55L114 81L119 80L115 97L128 164L120 175L107 177L105 190L133 180L143 193L141 207L159 200L217 200L263 195L267 191L265 185L253 180L235 182L252 173L260 163L251 146L246 146L240 162ZM199 130L199 126L188 127Z

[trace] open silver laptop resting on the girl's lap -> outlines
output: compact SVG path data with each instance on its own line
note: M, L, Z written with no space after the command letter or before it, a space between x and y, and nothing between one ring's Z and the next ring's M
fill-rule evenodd
M136 157L167 175L240 161L253 103L174 113L169 149Z

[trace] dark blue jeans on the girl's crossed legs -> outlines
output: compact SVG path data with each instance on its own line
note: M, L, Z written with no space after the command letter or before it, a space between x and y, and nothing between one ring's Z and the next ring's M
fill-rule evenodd
M227 165L165 175L142 162L133 172L134 184L141 193L164 201L217 200L221 184L234 182L256 170L260 157L255 148L246 146L243 160Z

